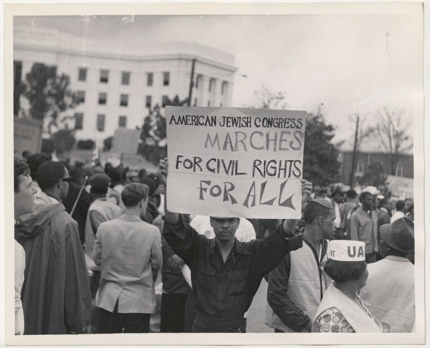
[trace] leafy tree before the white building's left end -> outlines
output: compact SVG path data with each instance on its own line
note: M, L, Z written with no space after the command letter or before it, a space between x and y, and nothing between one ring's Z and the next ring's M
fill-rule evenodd
M70 78L66 74L57 75L55 66L34 63L21 85L21 91L30 104L29 115L45 119L46 133L53 134L59 128L59 115L78 103L70 89ZM23 111L24 115L25 112ZM64 121L65 118L61 120Z

